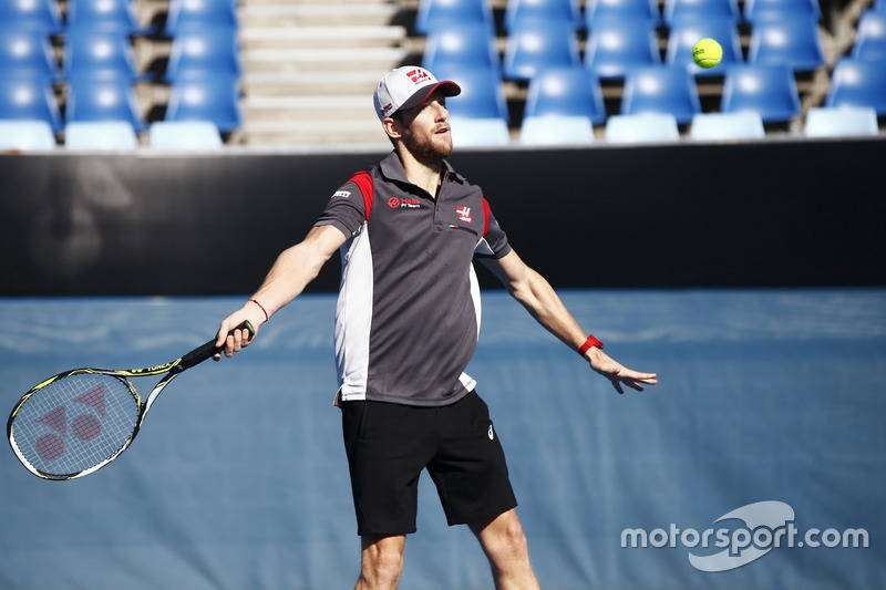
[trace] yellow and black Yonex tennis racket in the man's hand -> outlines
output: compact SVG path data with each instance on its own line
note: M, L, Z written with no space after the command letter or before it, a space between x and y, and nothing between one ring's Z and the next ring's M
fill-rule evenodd
M246 329L255 335L249 321ZM117 458L135 439L159 393L185 370L216 352L215 339L181 359L145 369L74 369L34 385L7 422L12 451L29 472L43 479L73 479ZM164 374L165 373L165 374ZM161 375L146 400L132 377Z

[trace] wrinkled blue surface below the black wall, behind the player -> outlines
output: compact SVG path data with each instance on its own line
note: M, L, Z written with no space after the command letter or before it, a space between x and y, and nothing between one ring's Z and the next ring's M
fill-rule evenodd
M468 373L543 588L886 587L886 290L562 296L660 384L618 395L519 304L484 293ZM66 369L173 360L241 301L0 300L0 402ZM333 311L332 296L305 296L234 360L183 374L93 475L45 482L0 449L0 588L352 588ZM429 477L420 495L401 588L491 589Z

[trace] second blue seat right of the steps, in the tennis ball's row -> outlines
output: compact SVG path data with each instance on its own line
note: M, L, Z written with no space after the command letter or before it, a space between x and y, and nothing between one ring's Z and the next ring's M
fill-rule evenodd
M507 35L503 68L508 80L530 80L548 68L580 63L571 24L524 19Z

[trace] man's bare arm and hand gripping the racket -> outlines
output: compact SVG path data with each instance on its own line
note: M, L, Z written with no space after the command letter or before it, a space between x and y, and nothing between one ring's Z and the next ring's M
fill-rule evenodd
M255 338L249 338L249 332L246 330L228 334L233 327L248 320L258 332L259 325L298 297L308 283L317 278L327 260L347 239L348 237L334 226L317 226L302 241L280 252L258 291L243 308L222 321L216 345L225 346L225 356L234 356L235 352ZM220 358L220 353L215 355L215 360Z

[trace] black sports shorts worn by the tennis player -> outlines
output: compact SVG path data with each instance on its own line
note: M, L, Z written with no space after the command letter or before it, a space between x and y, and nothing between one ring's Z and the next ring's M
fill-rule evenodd
M343 402L341 411L358 535L415 532L424 468L450 526L516 507L504 451L475 392L442 407Z

